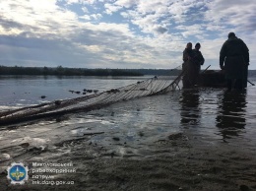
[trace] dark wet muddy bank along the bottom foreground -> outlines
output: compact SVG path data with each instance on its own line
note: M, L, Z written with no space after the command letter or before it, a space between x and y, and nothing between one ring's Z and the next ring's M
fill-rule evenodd
M98 136L94 135L93 137ZM72 161L76 173L63 174L58 180L74 180L74 185L32 185L32 178L21 185L10 185L1 172L1 190L255 190L256 159L253 151L241 147L203 144L183 133L157 140L145 155L135 154L129 143L112 139L108 146L92 143L92 136L56 144L59 157L48 162ZM118 148L123 148L123 153ZM64 152L66 151L66 152ZM26 163L53 156L28 151ZM48 153L48 154L47 154ZM9 162L2 162L1 165ZM32 172L29 173L32 176Z

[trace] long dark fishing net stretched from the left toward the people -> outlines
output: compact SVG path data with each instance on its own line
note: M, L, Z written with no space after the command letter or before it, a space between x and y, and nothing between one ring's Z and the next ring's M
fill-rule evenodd
M0 125L13 124L33 119L52 117L78 111L90 111L118 101L126 101L143 96L156 96L179 89L183 72L173 80L153 77L145 81L102 93L77 98L54 100L34 106L0 112Z

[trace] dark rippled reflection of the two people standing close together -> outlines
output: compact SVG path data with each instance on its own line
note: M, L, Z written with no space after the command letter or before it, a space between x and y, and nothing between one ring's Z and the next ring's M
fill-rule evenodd
M181 111L180 111L180 122L182 125L187 124L199 124L201 117L201 109L199 107L199 90L183 90L180 98Z

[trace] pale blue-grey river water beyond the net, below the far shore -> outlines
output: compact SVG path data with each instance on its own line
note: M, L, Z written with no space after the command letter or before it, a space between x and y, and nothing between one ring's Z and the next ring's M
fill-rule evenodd
M149 77L0 76L0 110L78 97L82 96L84 89L103 92L147 78ZM69 91L81 93L72 94Z

